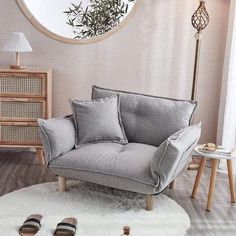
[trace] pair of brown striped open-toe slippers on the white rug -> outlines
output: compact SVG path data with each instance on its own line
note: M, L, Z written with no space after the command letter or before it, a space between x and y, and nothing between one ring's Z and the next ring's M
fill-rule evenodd
M42 215L30 215L19 229L21 236L34 236L41 228ZM77 220L75 218L65 218L57 224L54 236L74 236L76 232Z

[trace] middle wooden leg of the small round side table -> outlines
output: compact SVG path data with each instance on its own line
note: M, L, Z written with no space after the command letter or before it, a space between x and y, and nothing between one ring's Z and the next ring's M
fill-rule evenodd
M212 196L215 191L216 174L217 174L219 160L218 159L211 159L211 163L212 163L211 180L210 180L210 186L209 186L209 192L208 192L206 211L211 210Z

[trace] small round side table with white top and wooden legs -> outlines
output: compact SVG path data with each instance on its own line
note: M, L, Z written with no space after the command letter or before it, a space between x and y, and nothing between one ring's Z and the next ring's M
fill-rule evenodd
M236 197L235 197L235 190L234 190L234 175L233 175L233 166L232 166L233 156L206 154L206 153L203 153L200 150L198 150L198 147L195 148L195 152L193 155L201 156L201 162L200 162L200 166L198 168L197 176L195 179L195 183L194 183L194 187L193 187L193 191L192 191L192 198L195 198L197 195L197 191L198 191L198 188L200 185L200 180L201 180L201 177L203 174L206 160L209 159L211 161L212 169L211 169L211 178L210 178L206 211L211 210L212 197L213 197L213 193L215 190L215 182L216 182L218 164L219 164L220 159L225 159L227 161L231 202L235 203Z

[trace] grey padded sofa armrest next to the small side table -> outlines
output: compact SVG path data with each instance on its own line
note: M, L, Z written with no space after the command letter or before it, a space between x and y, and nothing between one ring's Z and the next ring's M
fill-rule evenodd
M157 192L161 192L185 170L200 135L199 123L174 133L158 147L151 163Z

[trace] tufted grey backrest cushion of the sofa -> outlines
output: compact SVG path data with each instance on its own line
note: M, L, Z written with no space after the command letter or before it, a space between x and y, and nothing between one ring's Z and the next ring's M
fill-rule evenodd
M119 90L92 88L92 99L120 95L120 112L129 142L159 146L176 131L189 126L196 102Z

